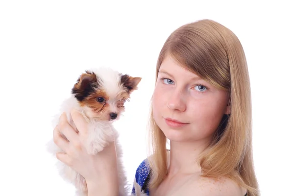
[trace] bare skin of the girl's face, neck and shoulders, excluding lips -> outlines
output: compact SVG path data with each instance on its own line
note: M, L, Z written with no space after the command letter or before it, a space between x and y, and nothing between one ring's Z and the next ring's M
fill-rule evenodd
M213 87L168 56L159 69L152 98L154 120L171 141L171 159L166 179L150 190L150 195L244 196L246 191L228 178L200 177L201 168L196 164L222 116L230 113L228 92ZM166 118L186 124L172 127Z

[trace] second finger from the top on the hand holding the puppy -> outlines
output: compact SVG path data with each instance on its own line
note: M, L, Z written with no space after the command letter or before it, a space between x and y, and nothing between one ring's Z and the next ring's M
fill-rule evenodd
M60 116L59 130L70 142L76 142L77 133L70 125L70 123L68 123L67 115L65 112L62 113L62 115Z

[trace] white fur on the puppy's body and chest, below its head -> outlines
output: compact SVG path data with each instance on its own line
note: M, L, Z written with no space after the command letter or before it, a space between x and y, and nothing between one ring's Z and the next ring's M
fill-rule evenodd
M82 112L83 110L79 108L77 102L75 101L75 98L71 97L67 100L65 100L62 104L62 108L64 112L66 112L69 123L75 128L73 121L71 119L70 111L71 109L75 108ZM59 116L62 113L58 114L56 118L54 119L53 126L55 127L58 124ZM84 116L85 117L85 116ZM87 118L87 117L85 117ZM127 183L126 183L126 176L125 172L123 170L123 163L122 163L122 147L118 142L118 132L113 127L111 122L103 121L93 121L88 120L89 122L89 137L86 141L85 147L87 149L87 152L89 154L96 154L97 152L101 151L109 142L113 141L115 139L116 142L116 150L117 150L117 160L118 160L118 172L119 172L119 185L120 185L120 196L126 196L127 195ZM51 140L48 144L48 150L50 153L52 153L54 156L56 152L61 152L62 150L57 147L53 140ZM73 183L74 186L77 189L76 196L87 196L87 187L85 184L85 179L75 172L73 169L68 167L67 165L63 164L62 162L57 162L57 169L60 173L60 175L63 177L64 180Z

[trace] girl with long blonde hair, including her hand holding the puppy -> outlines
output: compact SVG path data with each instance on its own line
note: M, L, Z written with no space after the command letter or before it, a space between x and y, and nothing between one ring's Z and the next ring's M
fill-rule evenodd
M87 123L75 111L72 116L80 134L62 115L54 141L66 153L57 158L85 177L89 196L115 196L114 144L89 156L81 142ZM137 169L133 195L259 196L245 53L228 28L201 20L166 40L156 67L149 139L150 155Z

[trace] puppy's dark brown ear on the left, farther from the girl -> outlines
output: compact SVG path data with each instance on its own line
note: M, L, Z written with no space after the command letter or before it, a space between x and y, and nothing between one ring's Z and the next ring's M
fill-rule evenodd
M96 74L86 71L86 73L82 73L77 79L77 82L73 86L72 93L75 94L75 98L82 101L94 91L97 84Z

